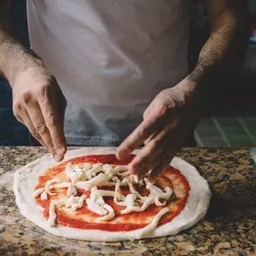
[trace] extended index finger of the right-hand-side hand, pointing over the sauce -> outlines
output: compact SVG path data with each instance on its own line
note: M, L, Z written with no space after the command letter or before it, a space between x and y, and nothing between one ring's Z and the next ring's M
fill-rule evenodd
M146 138L150 137L158 128L159 124L156 121L143 121L132 134L119 146L117 157L119 159L127 159L128 155L144 143Z

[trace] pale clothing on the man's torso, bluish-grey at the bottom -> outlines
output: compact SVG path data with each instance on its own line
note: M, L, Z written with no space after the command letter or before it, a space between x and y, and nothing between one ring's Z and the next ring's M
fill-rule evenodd
M187 75L186 0L29 0L31 48L67 100L67 142L117 146Z

